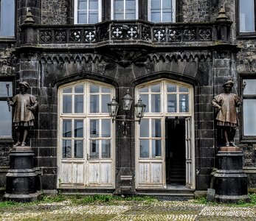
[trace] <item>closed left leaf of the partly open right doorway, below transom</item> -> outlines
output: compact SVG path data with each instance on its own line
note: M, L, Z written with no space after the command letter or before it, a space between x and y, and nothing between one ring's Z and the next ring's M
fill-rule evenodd
M139 125L136 181L139 188L164 188L163 119L142 119Z

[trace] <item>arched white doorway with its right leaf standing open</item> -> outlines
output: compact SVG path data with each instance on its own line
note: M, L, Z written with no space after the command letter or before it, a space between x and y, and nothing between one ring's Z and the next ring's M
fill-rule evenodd
M147 105L136 125L136 189L195 189L193 86L153 80L135 94Z

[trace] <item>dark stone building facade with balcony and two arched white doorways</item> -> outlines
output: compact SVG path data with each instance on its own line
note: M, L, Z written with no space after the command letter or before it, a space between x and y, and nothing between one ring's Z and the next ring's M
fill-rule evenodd
M131 1L131 19L115 17L120 10L114 1L95 1L93 24L79 21L90 18L89 10L77 8L87 1L13 1L13 34L0 36L0 104L10 122L3 102L7 83L12 95L27 81L38 97L29 143L42 189L166 195L179 185L188 196L206 191L223 143L211 101L226 80L234 81L239 95L247 81L235 142L255 189L256 131L248 124L256 108L255 31L239 29L240 1L173 0L167 22L153 22L154 1ZM164 19L168 12L161 7ZM115 97L117 119L136 119L134 104L131 111L121 108L126 91L134 104L140 97L147 105L140 124L112 123L108 115ZM5 124L8 119L0 116ZM1 186L13 140L11 130L1 131Z

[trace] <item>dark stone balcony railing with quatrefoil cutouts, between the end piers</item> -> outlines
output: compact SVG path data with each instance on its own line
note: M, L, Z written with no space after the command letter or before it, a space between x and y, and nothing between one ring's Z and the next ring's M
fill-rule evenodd
M37 43L148 44L167 45L215 41L215 24L151 24L148 22L104 22L96 25L36 26Z

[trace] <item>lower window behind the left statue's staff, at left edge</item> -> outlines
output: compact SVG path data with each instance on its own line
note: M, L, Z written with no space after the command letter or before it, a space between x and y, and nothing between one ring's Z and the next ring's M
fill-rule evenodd
M12 137L12 111L7 104L7 85L9 85L9 96L13 97L13 83L10 81L0 82L0 138Z

